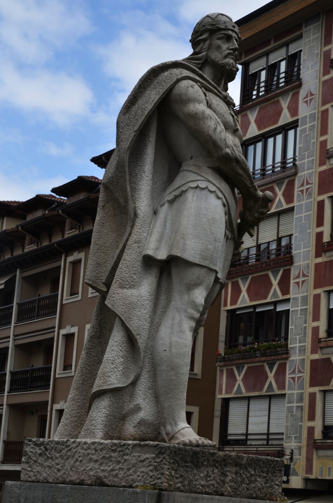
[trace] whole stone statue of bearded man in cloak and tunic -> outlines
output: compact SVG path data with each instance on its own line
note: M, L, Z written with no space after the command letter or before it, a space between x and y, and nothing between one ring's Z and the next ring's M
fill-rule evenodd
M56 438L211 447L186 422L192 341L237 242L269 211L253 182L228 82L240 35L223 14L193 53L151 68L117 120L86 282L100 293Z

